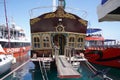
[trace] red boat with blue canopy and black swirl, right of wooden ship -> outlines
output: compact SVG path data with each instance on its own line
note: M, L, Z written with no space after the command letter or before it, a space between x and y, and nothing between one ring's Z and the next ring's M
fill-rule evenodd
M85 57L88 61L120 68L120 44L114 39L104 39L99 28L88 28Z

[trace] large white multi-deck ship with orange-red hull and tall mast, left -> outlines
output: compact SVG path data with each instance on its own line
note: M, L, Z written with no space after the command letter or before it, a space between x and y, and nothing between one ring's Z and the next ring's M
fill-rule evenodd
M6 54L14 57L25 55L30 50L30 40L26 37L24 29L12 22L8 25L6 0L4 0L4 13L6 24L0 24L0 44Z

